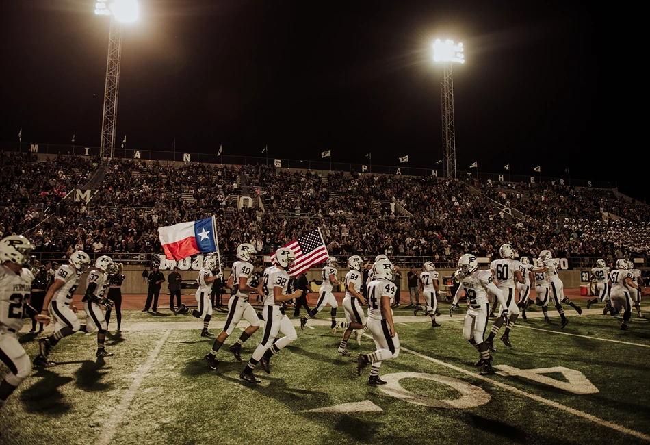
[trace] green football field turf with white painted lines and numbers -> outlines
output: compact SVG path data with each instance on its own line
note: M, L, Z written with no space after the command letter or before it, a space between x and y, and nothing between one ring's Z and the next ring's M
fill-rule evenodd
M620 317L598 306L582 316L567 307L564 329L554 308L552 325L527 312L510 333L512 348L495 339L497 374L488 377L478 376L478 353L463 339L464 311L450 317L441 305L441 327L432 328L430 318L395 309L402 348L382 364L388 384L380 387L366 384L369 368L361 377L355 370L356 353L374 351L372 338L359 346L352 335L352 356L339 355L341 333L329 328L328 310L304 331L292 319L298 340L272 357L270 374L256 368L258 385L239 372L261 329L236 361L228 346L241 322L215 371L203 361L213 338L200 337L200 320L128 310L122 331L107 335L114 357L95 357L95 334L56 346L57 366L36 368L0 410L0 443L648 443L650 321L634 313L632 330L620 331ZM215 312L213 333L225 318ZM33 336L21 341L33 358Z

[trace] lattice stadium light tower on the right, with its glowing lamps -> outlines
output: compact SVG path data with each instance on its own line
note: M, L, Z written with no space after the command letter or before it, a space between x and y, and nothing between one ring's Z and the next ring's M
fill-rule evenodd
M441 75L442 116L443 116L443 168L445 177L456 178L456 125L454 124L454 76L452 64L465 63L463 44L453 40L433 43L434 62L443 63Z

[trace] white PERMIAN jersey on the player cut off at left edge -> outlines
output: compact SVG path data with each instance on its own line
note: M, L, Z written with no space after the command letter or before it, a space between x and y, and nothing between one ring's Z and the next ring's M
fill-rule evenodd
M0 264L0 326L20 331L25 316L25 303L31 293L34 275L27 268L20 274Z

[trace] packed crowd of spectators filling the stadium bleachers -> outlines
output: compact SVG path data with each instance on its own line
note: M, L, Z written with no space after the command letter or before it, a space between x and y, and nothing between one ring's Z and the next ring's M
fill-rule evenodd
M41 251L160 253L157 227L215 214L224 257L240 242L268 254L316 227L330 255L387 253L439 265L455 264L465 252L498 255L504 242L530 256L542 249L560 257L650 254L650 207L610 190L116 159L105 164L87 207L62 206L64 192L92 175L95 160L3 154L0 162L8 173L0 232L23 233L40 223L29 236ZM228 200L242 183L264 212L237 210ZM44 207L57 203L63 213L43 221ZM503 207L523 216L512 218ZM603 220L603 212L625 220Z

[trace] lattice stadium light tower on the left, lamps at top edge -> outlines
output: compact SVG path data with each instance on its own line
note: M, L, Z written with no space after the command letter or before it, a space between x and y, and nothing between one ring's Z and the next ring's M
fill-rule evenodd
M96 0L95 14L111 17L104 86L104 113L101 122L99 155L113 157L115 129L118 115L118 92L120 90L120 63L122 60L122 23L138 20L138 1Z

